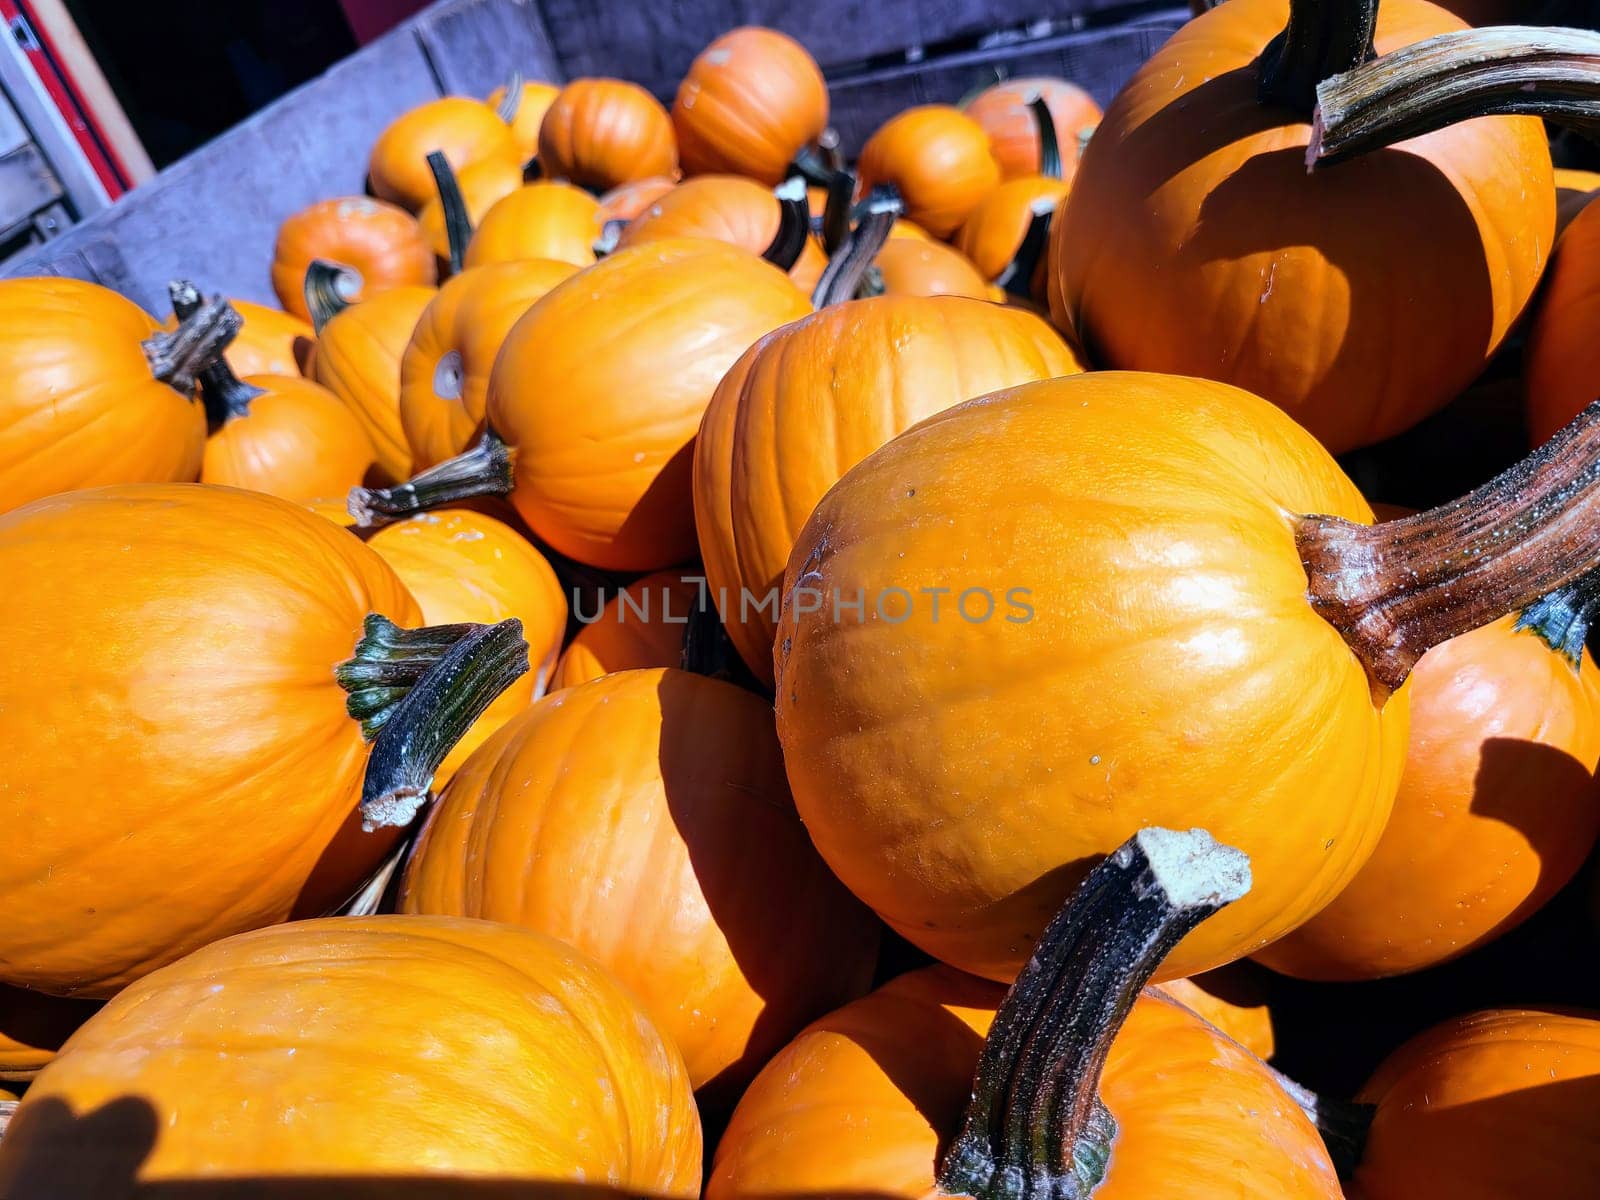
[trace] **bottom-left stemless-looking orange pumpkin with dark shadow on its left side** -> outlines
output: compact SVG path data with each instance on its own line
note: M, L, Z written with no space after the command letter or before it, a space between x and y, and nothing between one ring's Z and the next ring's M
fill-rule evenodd
M91 1120L128 1098L150 1110L142 1162ZM470 1192L494 1176L693 1197L701 1131L677 1051L570 947L490 922L352 917L229 938L112 1000L18 1110L0 1187L85 1157L200 1187L453 1176Z

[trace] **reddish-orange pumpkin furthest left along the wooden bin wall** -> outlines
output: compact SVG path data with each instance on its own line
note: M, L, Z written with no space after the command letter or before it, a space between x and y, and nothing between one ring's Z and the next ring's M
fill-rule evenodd
M272 250L272 290L288 312L310 320L306 270L317 259L349 272L350 301L403 286L432 286L438 278L434 251L416 218L403 208L365 195L322 200L278 227ZM245 314L248 326L251 314ZM245 370L240 374L286 374Z

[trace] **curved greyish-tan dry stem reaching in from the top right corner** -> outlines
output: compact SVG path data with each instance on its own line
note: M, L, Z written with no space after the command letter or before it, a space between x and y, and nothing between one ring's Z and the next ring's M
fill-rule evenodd
M1490 115L1600 134L1600 34L1502 26L1440 34L1317 86L1307 166Z

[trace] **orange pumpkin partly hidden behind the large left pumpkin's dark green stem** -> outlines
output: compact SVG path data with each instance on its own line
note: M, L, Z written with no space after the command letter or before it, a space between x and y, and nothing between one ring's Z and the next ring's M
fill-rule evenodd
M544 694L566 635L566 595L526 538L470 509L421 512L384 526L366 544L416 597L424 622L491 626L514 616L528 640L528 674L499 694L440 763L434 790L442 790L478 746Z

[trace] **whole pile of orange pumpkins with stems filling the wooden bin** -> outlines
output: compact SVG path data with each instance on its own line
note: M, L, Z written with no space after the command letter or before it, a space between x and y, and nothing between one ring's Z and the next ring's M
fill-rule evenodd
M768 29L434 101L280 309L0 283L0 1197L1600 1195L1600 1011L1318 1096L1230 974L1600 837L1563 59L1197 10L853 165ZM1334 458L1485 373L1459 499Z

